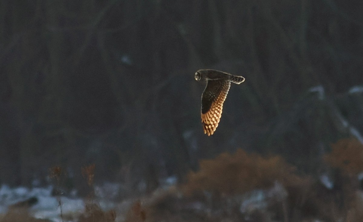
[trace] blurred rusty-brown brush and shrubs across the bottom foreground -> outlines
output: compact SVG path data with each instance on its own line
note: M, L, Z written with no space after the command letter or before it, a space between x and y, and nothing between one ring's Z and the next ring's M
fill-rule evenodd
M262 157L238 149L201 160L199 170L189 172L187 182L157 189L140 196L125 215L102 210L94 191L85 198L79 216L61 215L62 221L362 221L363 191L359 174L363 170L363 145L346 138L331 145L321 164L326 165L332 186L319 175L301 175L280 156ZM95 165L82 168L93 187ZM61 187L62 168L53 167L50 176ZM58 188L56 188L58 189ZM62 199L58 193L59 207ZM62 212L62 211L61 211ZM61 213L62 214L62 213ZM26 206L11 207L0 222L43 222L28 214Z

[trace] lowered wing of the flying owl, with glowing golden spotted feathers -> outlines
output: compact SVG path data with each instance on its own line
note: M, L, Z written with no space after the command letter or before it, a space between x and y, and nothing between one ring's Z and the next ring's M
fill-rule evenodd
M201 119L204 133L212 135L222 115L223 102L227 97L231 82L228 80L208 80L202 94Z

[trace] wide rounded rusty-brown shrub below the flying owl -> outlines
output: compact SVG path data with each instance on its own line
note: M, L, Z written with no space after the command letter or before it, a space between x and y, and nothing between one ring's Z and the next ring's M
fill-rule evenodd
M236 194L270 187L274 181L289 187L302 182L294 170L280 156L264 158L238 149L233 155L222 153L213 160L201 160L199 171L187 175L184 191L187 194L200 190Z

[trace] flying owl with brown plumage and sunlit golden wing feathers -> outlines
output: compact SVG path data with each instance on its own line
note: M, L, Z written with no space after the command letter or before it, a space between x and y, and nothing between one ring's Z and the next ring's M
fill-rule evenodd
M202 94L201 118L204 133L210 136L218 126L223 102L227 97L231 82L240 84L245 81L245 78L213 69L200 69L195 73L194 78L197 81L207 81L207 86Z

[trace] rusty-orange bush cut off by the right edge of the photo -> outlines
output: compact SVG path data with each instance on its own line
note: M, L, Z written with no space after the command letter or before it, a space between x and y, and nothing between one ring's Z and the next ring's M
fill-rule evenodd
M354 138L345 138L332 144L330 154L324 160L332 167L342 169L348 175L363 171L363 144Z

